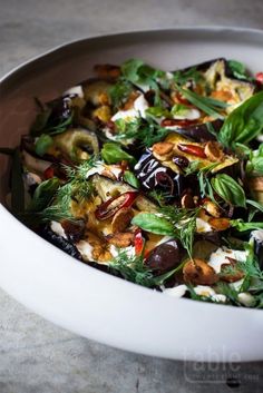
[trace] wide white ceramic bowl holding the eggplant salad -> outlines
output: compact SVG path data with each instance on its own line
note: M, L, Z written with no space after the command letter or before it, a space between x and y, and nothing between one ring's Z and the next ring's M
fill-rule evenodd
M132 57L164 69L226 57L262 71L263 32L199 28L85 39L55 49L1 80L0 146L13 147L47 100L91 75L95 63ZM115 347L169 358L263 358L263 312L175 299L79 263L20 224L3 206L0 157L0 286L53 323Z

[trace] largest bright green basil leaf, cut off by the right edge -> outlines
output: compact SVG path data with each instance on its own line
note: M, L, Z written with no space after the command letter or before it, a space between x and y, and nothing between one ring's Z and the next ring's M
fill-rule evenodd
M247 144L263 131L263 91L257 92L234 109L218 132L226 147Z

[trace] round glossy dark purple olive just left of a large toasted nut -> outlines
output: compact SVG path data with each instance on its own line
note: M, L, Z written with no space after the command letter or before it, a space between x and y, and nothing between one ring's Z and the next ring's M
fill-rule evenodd
M157 274L165 273L181 263L181 247L176 240L168 240L155 247L145 264Z

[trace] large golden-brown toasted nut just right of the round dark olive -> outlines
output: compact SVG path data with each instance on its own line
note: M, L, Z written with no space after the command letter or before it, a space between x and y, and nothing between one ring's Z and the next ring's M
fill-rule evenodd
M183 274L184 281L194 285L212 285L218 281L213 267L197 258L186 262Z

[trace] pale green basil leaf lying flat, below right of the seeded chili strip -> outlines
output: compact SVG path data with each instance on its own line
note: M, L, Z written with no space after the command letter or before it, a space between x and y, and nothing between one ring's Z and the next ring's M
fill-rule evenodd
M156 235L174 235L173 224L153 213L139 213L133 218L132 224Z

